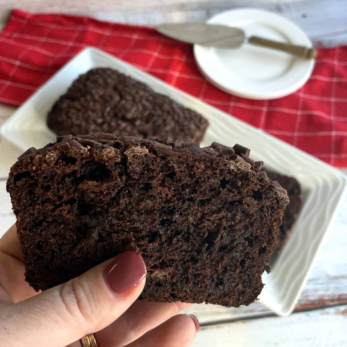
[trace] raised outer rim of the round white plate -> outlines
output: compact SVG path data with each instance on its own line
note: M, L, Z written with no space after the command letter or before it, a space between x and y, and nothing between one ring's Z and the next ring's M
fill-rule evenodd
M227 10L211 17L207 23L230 25L234 20L236 21L240 18L271 23L272 27L279 28L278 30L292 43L312 47L310 39L308 39L301 28L286 18L264 10ZM197 44L194 45L194 56L201 73L221 90L250 99L266 100L289 95L307 82L314 67L314 60L293 58L290 74L286 73L273 81L253 84L245 83L245 81L234 81L233 79L226 78L224 70L215 68L213 60L216 62L218 59L213 52L213 48L203 47Z

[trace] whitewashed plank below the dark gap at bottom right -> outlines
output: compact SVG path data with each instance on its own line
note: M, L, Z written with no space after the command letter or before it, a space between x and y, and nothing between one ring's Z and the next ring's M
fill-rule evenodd
M347 346L347 305L201 327L192 347Z

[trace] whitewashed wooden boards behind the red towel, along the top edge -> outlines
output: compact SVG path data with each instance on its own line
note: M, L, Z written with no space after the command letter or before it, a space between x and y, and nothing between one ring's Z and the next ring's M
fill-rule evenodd
M16 0L0 0L0 23L4 23L10 10L16 7ZM261 8L292 20L303 28L315 46L347 43L346 0L25 0L20 3L21 9L34 13L70 13L144 25L201 21L240 7Z

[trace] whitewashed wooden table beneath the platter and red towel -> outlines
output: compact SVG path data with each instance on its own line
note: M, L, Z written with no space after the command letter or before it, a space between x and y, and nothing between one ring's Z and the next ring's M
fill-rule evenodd
M214 13L231 8L230 3L236 3L237 7L241 4L255 7L255 2L190 0L180 3L165 0L162 6L159 6L160 1L149 1L156 6L155 13L143 13L143 10L139 11L139 7L134 13L130 11L129 6L126 12L116 7L110 13L96 7L93 9L96 11L94 15L102 19L157 24L165 21L204 20ZM347 44L346 0L276 2L261 6L258 3L257 7L276 11L293 20L304 28L316 46ZM27 6L37 3L39 0L27 2ZM78 8L73 3L74 1L67 3L66 9L78 13ZM86 3L91 4L91 1ZM138 5L140 2L136 3ZM12 107L0 105L0 124L14 110ZM6 177L10 165L21 152L0 139L0 237L15 221L6 193ZM344 171L347 173L346 169ZM202 327L193 346L347 346L346 211L347 196L344 197L329 237L317 257L292 315L285 318L277 317L259 303L231 309L214 305L194 305L188 312L194 312L198 316Z

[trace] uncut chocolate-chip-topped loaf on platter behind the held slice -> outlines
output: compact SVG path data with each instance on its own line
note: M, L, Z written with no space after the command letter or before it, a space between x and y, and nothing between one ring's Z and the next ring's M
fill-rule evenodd
M200 142L208 121L130 76L95 68L80 75L56 101L47 124L57 135L107 132Z

